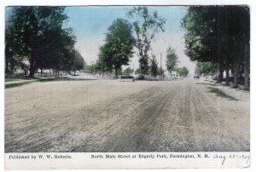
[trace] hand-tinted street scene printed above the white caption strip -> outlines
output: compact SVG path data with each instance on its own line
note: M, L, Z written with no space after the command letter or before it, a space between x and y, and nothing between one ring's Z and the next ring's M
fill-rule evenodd
M5 14L5 152L250 151L249 6Z

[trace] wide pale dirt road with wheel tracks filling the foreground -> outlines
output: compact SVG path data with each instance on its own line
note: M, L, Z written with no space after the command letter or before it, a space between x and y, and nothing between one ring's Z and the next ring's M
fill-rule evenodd
M31 83L5 90L5 152L249 151L249 108L203 80Z

